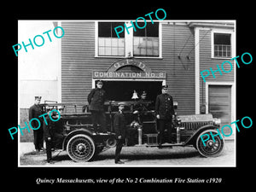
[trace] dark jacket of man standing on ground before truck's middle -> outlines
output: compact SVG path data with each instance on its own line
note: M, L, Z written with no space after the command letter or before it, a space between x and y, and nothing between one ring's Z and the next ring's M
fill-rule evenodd
M125 138L125 116L123 113L115 113L113 117L113 130L116 137L121 136L122 138Z

